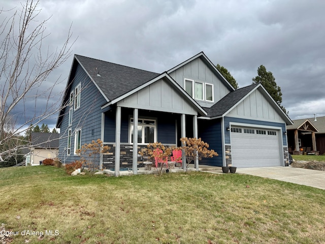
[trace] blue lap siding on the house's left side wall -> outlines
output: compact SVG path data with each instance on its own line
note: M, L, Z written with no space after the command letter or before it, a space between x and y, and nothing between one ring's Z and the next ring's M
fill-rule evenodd
M66 163L80 159L74 155L76 129L81 129L81 145L101 138L103 112L101 106L107 102L79 64L76 67L75 76L71 80L73 81L68 94L70 95L79 83L81 83L81 94L80 108L76 110L73 108L72 126L68 125L70 106L64 109L60 126L59 157L62 162L64 160ZM68 131L70 129L72 130L71 155L68 156L64 148L68 146Z

